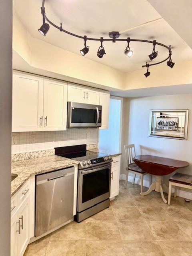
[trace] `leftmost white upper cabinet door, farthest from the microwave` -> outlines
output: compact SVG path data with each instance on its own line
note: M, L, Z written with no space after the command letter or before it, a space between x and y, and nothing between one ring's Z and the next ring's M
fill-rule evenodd
M42 131L43 78L13 74L12 132Z

